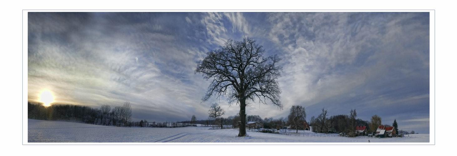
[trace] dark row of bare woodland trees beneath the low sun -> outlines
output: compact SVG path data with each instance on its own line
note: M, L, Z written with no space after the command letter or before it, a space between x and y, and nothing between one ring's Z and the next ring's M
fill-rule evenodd
M109 105L102 105L101 109L89 106L54 104L49 107L39 103L27 103L28 119L59 120L83 122L94 125L132 126L132 107L129 102L111 109Z

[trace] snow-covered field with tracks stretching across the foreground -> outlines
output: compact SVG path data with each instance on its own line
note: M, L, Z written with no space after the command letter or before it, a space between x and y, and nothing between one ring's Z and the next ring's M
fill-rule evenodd
M344 137L338 134L320 134L308 130L295 130L282 134L260 133L248 130L246 137L237 137L238 129L212 130L211 127L113 127L102 125L80 124L62 121L44 121L28 119L27 138L24 144L42 143L90 143L90 144L354 144L354 145L392 145L429 143L429 134L414 134L403 138L368 138ZM27 141L25 141L27 140ZM370 140L371 143L368 143Z

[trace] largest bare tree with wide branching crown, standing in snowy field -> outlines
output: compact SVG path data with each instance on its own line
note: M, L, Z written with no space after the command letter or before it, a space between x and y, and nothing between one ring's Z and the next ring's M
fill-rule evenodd
M246 135L246 105L256 99L266 104L266 99L282 109L281 88L277 78L281 77L281 60L277 55L263 57L264 49L252 38L243 41L227 40L218 50L207 52L207 57L197 61L195 73L212 79L202 101L211 96L224 96L229 104L239 104L241 123L238 136Z

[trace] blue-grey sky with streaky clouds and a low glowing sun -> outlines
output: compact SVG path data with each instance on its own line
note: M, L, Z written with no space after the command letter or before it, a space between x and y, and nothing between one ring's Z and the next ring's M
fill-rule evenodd
M202 102L209 81L196 62L228 39L251 37L265 56L282 58L283 110L267 101L248 115L307 120L321 109L399 130L430 133L428 12L29 12L27 97L43 90L53 104L132 104L133 120L206 120L212 103L236 115L225 98ZM433 75L432 75L433 76Z

